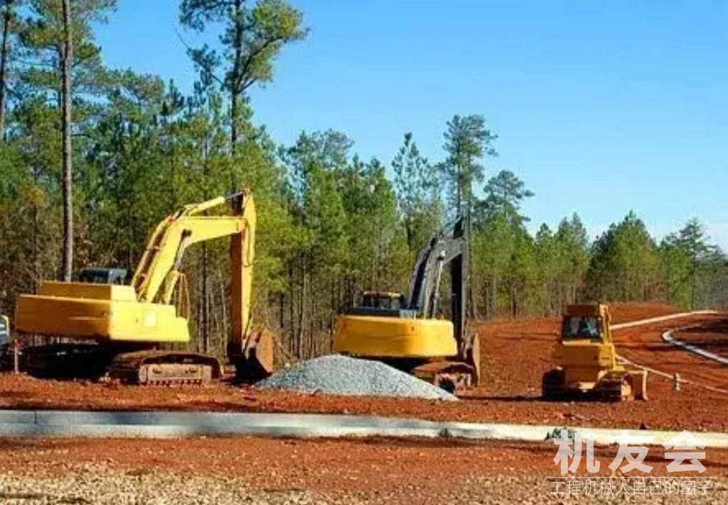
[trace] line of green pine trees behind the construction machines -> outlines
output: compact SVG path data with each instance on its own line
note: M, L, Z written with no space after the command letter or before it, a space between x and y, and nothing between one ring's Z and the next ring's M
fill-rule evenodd
M92 27L115 0L0 2L0 312L46 279L84 266L134 269L149 234L182 204L234 188L258 206L254 316L282 352L328 351L336 315L364 289L405 290L417 252L470 215L470 312L478 319L555 314L585 300L721 307L728 263L698 220L663 239L628 212L594 241L579 215L527 228L537 197L492 170L496 133L482 114L443 125L440 159L403 132L391 159L365 157L336 130L281 145L254 119L250 88L310 36L284 0L183 0L192 91L164 76L108 68ZM226 241L192 248L196 340L222 354L229 325Z

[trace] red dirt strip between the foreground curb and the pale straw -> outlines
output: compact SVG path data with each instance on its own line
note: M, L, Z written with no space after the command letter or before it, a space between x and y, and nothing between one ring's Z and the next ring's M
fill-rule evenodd
M134 450L130 450L133 443ZM468 479L559 477L553 442L472 442L464 440L272 440L260 438L178 440L0 440L0 468L14 474L52 475L84 464L143 476L169 470L196 476L241 477L266 490L306 489L326 496L387 494L406 486L419 496L462 485ZM598 475L657 477L669 473L661 447L644 460L649 475L612 472L616 448L597 447ZM728 475L728 451L705 449L700 477ZM622 463L624 464L624 463ZM582 458L577 474L589 475ZM675 474L671 474L675 475ZM698 477L686 472L681 477Z

